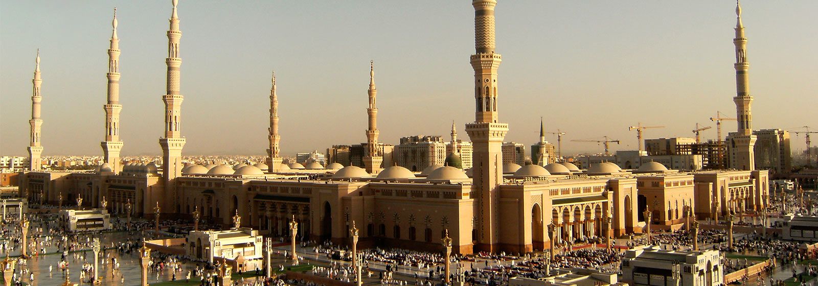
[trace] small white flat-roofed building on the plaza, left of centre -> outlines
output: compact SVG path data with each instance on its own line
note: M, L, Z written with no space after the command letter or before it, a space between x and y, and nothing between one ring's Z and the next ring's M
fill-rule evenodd
M249 227L231 230L196 230L187 235L185 253L201 261L226 260L233 270L263 269L263 237Z

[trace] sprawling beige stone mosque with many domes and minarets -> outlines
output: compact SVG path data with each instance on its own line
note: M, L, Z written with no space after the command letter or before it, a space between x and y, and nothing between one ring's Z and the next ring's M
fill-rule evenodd
M382 143L378 141L374 66L366 109L365 168L339 163L282 163L274 74L266 162L185 166L182 149L186 141L181 132L184 97L179 89L182 32L177 5L178 0L173 0L167 31L162 165L121 164L119 159L124 144L119 139L122 105L115 14L108 50L106 136L101 142L106 163L93 172L39 169L43 120L38 55L30 121L31 165L20 181L21 196L55 205L67 205L65 202L81 197L91 208L106 201L113 213L129 209L133 215L146 218L155 217L155 206L159 206L160 217L167 218L191 218L191 213L199 210L203 219L224 226L231 225L231 216L237 212L247 218L241 221L242 226L272 236L289 235L287 222L294 217L300 226L299 239L336 244L348 243L348 229L355 223L362 228L359 247L429 251L442 248L440 239L448 232L453 251L460 253L530 252L573 239L606 237L607 233L640 233L647 217L658 227L678 229L692 215L752 212L765 208L769 199L767 172L752 168L685 173L667 170L661 163L645 163L635 170L605 162L591 164L586 170L564 162L544 167L502 163L501 147L509 127L499 118L497 70L502 56L495 51L496 0L472 1L475 53L470 64L474 69L475 118L465 125L473 149L473 167L468 172L452 166L411 172L383 165L383 150L378 148ZM748 109L744 99L741 103ZM553 237L549 228L554 229Z

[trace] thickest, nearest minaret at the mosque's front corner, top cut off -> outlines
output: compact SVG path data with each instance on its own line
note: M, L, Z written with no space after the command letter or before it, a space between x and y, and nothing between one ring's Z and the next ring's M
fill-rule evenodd
M473 0L474 50L470 57L474 69L474 123L468 123L474 146L472 188L477 194L478 231L474 251L494 252L499 242L499 185L502 183L502 144L508 124L497 118L497 68L502 56L494 53L494 7L496 0Z

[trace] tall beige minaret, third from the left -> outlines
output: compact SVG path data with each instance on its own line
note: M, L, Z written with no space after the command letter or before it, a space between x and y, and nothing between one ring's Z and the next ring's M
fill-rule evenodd
M173 14L171 14L169 20L168 57L164 60L165 64L168 65L168 82L166 93L162 96L162 101L164 101L164 137L159 140L159 145L162 146L162 169L167 194L173 193L173 179L182 175L182 147L185 146L185 138L182 137L181 128L179 127L180 123L182 123L182 99L184 96L179 94L179 68L182 66L182 59L179 57L179 38L182 38L182 31L179 31L179 18L176 14L177 4L178 0L173 0Z

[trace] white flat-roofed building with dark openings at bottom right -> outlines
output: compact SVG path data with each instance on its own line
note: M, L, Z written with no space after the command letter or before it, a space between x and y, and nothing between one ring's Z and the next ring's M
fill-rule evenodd
M669 251L640 246L622 258L622 282L631 285L712 286L724 284L717 250Z

